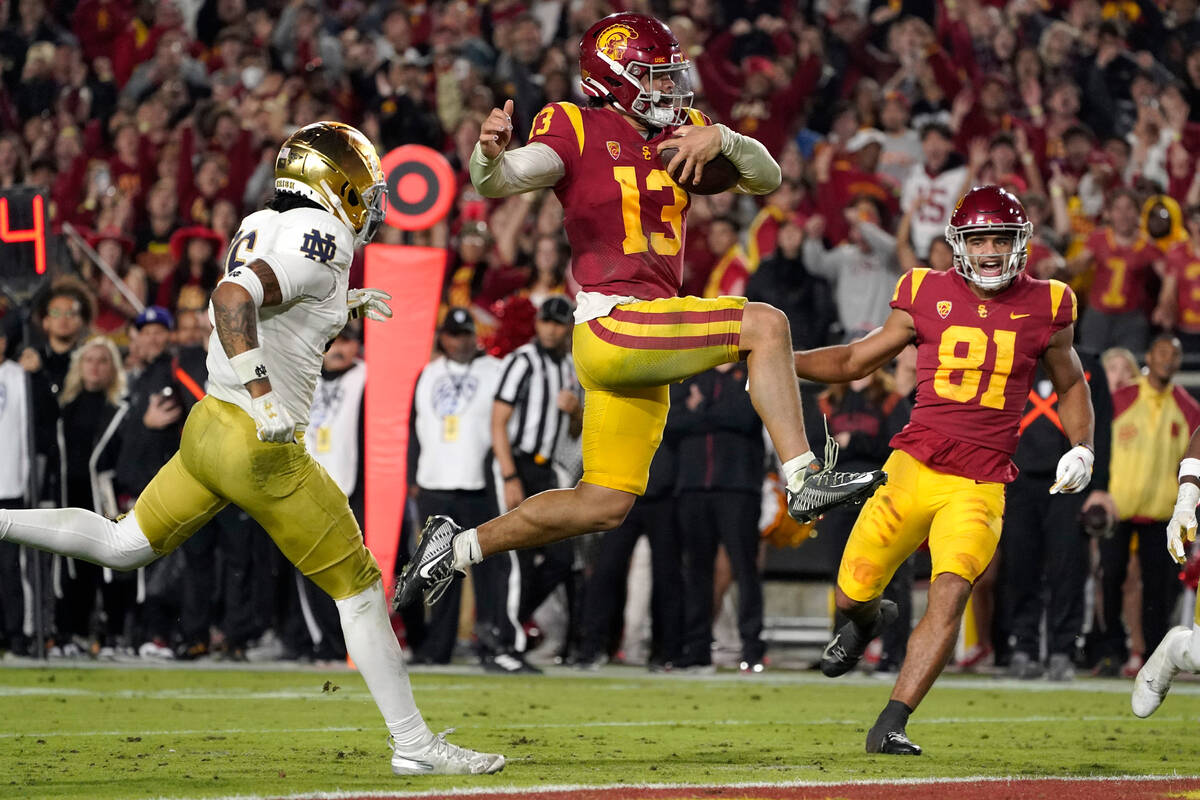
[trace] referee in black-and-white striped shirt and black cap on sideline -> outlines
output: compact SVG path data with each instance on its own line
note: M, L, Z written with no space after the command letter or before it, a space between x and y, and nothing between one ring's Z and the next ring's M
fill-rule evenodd
M534 339L510 353L502 367L492 404L492 476L502 511L515 509L529 495L562 488L554 450L563 437L578 438L583 429L581 390L568 351L572 327L570 301L547 297L538 311ZM564 541L510 551L479 565L496 565L487 570L487 585L480 588L479 613L491 618L491 636L482 637L490 651L484 657L486 668L536 670L524 661L521 622L570 578L574 553L574 545Z

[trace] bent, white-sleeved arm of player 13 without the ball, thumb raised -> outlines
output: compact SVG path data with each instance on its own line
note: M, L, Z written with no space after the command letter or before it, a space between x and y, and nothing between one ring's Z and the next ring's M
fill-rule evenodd
M484 197L509 197L535 188L550 188L566 168L548 145L534 142L505 150L512 140L512 101L493 108L479 128L479 142L470 154L470 182Z

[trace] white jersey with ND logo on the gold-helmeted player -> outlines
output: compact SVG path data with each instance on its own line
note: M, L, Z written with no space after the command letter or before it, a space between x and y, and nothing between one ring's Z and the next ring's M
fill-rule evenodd
M262 259L280 282L283 301L258 309L258 344L271 390L295 420L296 431L308 425L325 347L346 326L353 257L350 229L319 209L256 211L241 221L229 243L226 272ZM250 392L234 374L215 329L208 363L208 392L250 414Z

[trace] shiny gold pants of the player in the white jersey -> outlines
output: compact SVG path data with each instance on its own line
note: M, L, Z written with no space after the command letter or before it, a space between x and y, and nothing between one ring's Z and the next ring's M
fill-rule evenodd
M304 445L259 441L250 415L205 397L187 415L179 452L146 486L133 513L154 552L166 555L229 503L334 600L379 579L346 495Z

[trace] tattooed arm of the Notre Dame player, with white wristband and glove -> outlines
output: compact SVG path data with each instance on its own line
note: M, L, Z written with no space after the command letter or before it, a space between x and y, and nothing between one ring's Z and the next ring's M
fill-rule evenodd
M224 277L212 290L212 319L217 339L238 380L251 397L251 416L263 441L286 443L295 435L295 422L271 390L271 378L258 344L258 309L283 302L278 278L266 261L256 260Z

